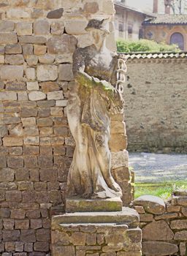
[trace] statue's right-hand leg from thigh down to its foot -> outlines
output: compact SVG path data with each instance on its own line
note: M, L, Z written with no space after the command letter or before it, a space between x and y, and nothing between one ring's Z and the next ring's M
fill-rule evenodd
M94 132L97 151L97 159L107 186L116 192L121 191L121 187L115 182L111 174L111 153L108 146L109 135L107 132Z

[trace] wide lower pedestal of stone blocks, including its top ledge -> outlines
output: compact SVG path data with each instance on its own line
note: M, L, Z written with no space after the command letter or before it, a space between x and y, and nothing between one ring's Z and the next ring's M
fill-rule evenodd
M52 255L141 256L142 231L137 227L139 224L138 215L129 208L123 208L123 211L126 211L124 216L129 214L129 218L126 220L131 219L130 222L126 222L125 219L121 219L120 222L116 212L115 218L114 215L110 218L113 222L105 222L104 214L102 217L101 213L94 213L98 222L89 222L89 220L96 220L95 217L93 218L93 213L92 217L88 216L88 219L85 218L85 214L91 213L83 214L83 218L78 214L79 223L76 222L75 218L72 218L72 215L77 214L53 217Z

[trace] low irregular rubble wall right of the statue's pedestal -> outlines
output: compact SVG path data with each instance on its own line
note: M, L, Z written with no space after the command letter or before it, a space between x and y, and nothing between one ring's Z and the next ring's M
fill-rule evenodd
M142 255L187 254L187 192L174 192L166 203L159 197L142 196L134 205L140 214Z

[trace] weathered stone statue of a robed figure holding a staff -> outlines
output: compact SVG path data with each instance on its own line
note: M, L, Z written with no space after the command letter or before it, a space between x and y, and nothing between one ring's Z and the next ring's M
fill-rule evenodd
M104 29L99 36L105 34ZM104 199L122 195L110 172L108 146L110 115L123 111L121 78L116 88L112 86L121 64L118 56L106 48L105 40L102 44L100 41L98 45L77 48L73 58L75 86L69 94L67 116L76 147L68 176L68 196Z

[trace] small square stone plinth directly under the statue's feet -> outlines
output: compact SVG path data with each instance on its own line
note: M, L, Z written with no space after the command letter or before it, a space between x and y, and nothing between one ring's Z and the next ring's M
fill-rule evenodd
M118 197L109 199L83 199L71 197L66 199L66 212L89 212L89 211L121 211L122 200Z

